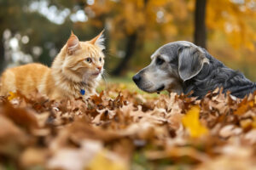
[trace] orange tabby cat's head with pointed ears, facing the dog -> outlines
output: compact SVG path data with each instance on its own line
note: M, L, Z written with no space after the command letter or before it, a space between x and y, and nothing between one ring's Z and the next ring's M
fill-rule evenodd
M102 77L104 65L102 50L105 48L102 32L85 42L80 42L79 38L71 33L61 50L64 56L61 71L66 77L74 82L88 82Z

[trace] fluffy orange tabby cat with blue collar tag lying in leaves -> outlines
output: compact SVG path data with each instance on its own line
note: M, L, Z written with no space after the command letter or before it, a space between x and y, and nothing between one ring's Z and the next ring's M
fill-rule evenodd
M87 42L79 42L73 32L51 68L41 64L21 65L3 72L0 95L38 91L49 99L86 99L96 93L104 65L102 32Z

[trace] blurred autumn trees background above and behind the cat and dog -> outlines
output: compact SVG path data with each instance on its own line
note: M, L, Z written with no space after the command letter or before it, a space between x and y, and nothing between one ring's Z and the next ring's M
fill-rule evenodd
M50 65L71 30L90 40L105 29L105 69L131 77L166 42L207 48L256 81L256 0L0 0L0 70ZM127 76L128 75L128 76Z

